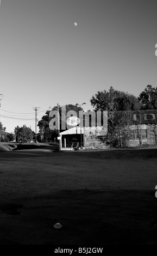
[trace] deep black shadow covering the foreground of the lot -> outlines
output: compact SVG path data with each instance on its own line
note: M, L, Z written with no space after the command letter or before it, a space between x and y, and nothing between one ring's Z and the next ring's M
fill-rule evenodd
M58 191L8 201L0 211L1 245L157 244L151 191Z

